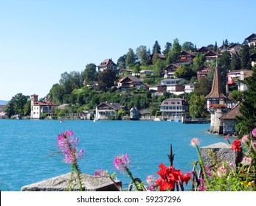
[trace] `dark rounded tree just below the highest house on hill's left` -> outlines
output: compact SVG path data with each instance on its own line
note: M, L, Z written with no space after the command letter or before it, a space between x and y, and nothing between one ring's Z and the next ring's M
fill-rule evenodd
M105 71L100 72L98 77L98 88L103 91L107 91L114 86L115 81L117 81L117 74L111 68L105 69Z

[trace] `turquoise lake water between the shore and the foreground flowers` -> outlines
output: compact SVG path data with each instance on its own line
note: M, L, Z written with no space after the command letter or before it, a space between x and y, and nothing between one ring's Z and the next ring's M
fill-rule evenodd
M197 160L192 138L201 146L225 142L223 136L207 133L210 124L181 124L170 121L47 121L0 119L0 189L20 191L24 185L68 173L70 166L59 154L57 135L72 129L84 149L80 170L94 174L100 168L117 172L124 188L129 180L114 169L117 154L128 153L134 177L145 181L159 170L160 163L169 166L170 143L175 154L173 166L190 171Z

